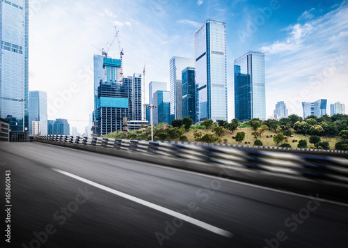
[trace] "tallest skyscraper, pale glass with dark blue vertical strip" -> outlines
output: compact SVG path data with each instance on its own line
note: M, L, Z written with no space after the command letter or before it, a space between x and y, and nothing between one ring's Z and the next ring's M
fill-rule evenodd
M206 20L194 38L198 121L227 120L226 23Z

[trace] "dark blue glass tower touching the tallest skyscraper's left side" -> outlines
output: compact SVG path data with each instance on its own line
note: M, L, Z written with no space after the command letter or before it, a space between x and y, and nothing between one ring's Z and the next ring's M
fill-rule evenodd
M196 114L195 68L187 67L182 70L182 118L189 117L196 123Z

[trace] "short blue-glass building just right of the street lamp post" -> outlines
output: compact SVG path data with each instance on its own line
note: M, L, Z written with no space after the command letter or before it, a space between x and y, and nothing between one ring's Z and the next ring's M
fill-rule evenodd
M171 96L169 91L156 91L153 95L153 102L157 108L153 109L153 123L170 124L171 118Z

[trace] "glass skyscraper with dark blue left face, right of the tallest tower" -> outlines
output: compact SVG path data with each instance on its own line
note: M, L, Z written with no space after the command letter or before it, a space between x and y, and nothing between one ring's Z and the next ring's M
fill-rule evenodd
M235 117L266 119L264 53L248 52L235 60Z

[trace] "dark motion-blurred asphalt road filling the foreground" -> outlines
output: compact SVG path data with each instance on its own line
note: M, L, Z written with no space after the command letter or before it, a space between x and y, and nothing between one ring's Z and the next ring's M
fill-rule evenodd
M1 247L348 244L345 204L49 144L0 142L0 183Z

